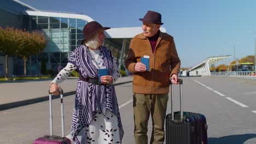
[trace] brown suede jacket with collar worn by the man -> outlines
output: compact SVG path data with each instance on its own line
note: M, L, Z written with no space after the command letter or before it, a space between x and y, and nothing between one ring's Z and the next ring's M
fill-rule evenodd
M141 57L149 56L149 71L136 72L134 67ZM160 32L155 52L143 33L136 35L130 43L125 67L133 73L133 93L165 94L169 92L170 76L181 67L173 37Z

